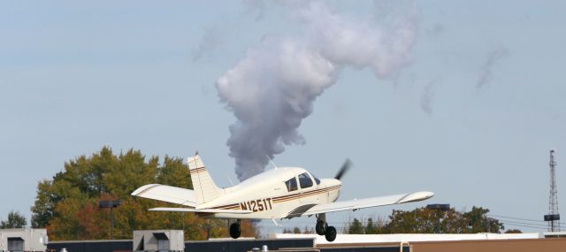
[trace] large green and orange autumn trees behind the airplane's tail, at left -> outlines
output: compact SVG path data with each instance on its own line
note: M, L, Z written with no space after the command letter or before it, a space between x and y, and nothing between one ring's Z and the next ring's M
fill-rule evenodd
M197 218L193 213L156 212L150 208L179 207L130 194L142 185L157 183L192 189L187 164L181 158L145 157L129 149L115 155L104 147L91 157L80 156L65 163L52 179L38 183L32 207L32 226L46 227L50 239L107 239L110 210L99 209L101 200L122 200L113 210L116 239L129 239L134 230L184 229L186 240L227 236L226 221ZM242 224L242 236L256 236L253 223Z

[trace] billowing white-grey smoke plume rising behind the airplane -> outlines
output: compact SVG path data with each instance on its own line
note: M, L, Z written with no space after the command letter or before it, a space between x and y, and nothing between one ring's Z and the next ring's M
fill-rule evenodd
M286 145L305 143L298 127L312 113L317 96L336 82L340 69L370 68L386 79L411 60L415 6L387 25L349 19L322 2L290 11L303 36L264 38L217 81L218 95L237 118L227 145L240 180L263 172L268 157Z

